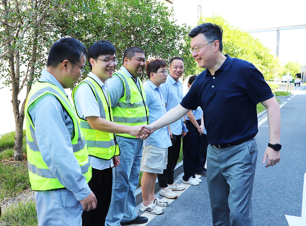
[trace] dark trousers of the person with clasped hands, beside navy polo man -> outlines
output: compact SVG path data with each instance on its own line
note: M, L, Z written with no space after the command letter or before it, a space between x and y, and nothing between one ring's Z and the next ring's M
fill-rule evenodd
M201 125L201 120L196 120ZM183 138L183 180L196 175L198 162L201 155L202 136L190 120L186 120L187 134Z

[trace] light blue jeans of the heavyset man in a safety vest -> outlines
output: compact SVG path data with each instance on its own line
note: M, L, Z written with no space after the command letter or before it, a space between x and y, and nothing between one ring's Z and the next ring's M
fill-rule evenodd
M113 191L105 225L119 226L137 217L135 189L138 186L143 140L116 136L120 164L113 168Z

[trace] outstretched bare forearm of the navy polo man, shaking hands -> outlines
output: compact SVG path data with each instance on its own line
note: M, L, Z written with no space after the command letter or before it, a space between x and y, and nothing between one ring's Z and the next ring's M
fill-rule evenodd
M181 117L183 117L187 112L188 109L182 107L179 104L175 108L170 109L165 115L163 115L161 118L159 118L150 125L153 128L153 130L156 131L166 125L176 122Z

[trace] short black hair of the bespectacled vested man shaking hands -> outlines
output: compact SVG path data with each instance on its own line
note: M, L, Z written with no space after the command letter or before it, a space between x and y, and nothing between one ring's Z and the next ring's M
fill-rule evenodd
M92 69L91 63L89 61L90 58L96 59L101 55L102 56L106 56L106 55L112 56L114 54L116 54L116 48L110 41L106 41L106 40L96 41L88 48L87 59L89 62L90 69Z

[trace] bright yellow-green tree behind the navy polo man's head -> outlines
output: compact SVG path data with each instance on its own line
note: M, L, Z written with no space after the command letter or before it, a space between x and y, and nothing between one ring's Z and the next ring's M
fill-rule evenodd
M281 66L278 57L271 54L271 50L253 38L253 36L241 28L231 26L223 17L201 17L198 24L218 24L223 29L223 53L230 57L237 57L251 62L262 72L265 80L273 80L280 74Z

